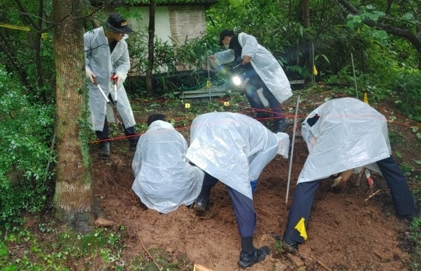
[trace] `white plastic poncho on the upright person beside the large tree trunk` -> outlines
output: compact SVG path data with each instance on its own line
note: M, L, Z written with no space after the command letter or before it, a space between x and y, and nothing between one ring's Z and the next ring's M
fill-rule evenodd
M117 110L122 117L125 127L131 127L136 124L134 121L133 112L131 111L129 99L127 98L126 90L123 82L127 77L127 72L130 68L129 51L127 50L127 43L124 41L127 35L115 45L113 53L110 54L110 47L108 46L108 38L104 34L104 29L99 27L92 31L88 31L83 35L85 45L85 65L97 75L98 84L104 90L106 96L111 92L114 97L113 81L110 80L113 73L120 72L123 78L117 85ZM87 87L89 89L88 108L90 110L90 117L88 122L92 124L92 130L102 131L104 129L104 120L106 117L107 103L99 91L98 87L87 80ZM108 122L113 117L108 117Z

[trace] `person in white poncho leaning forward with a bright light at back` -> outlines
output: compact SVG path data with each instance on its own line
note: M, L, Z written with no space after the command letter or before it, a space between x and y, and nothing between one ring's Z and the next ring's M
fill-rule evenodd
M250 105L257 111L256 119L266 123L269 113L264 107L257 90L262 88L262 94L269 103L275 124L274 133L283 132L289 124L282 114L280 104L292 96L290 81L285 75L278 60L271 52L257 43L254 36L240 33L234 34L232 30L223 30L220 33L220 45L227 49L217 52L209 57L211 66L220 66L237 61L245 68L244 78L249 78L244 85L244 94Z

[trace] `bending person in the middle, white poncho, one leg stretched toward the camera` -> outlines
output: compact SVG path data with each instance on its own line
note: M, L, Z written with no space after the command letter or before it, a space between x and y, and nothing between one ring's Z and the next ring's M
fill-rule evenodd
M269 247L253 246L256 212L252 193L264 167L276 154L287 158L289 147L286 133L272 133L257 120L238 113L211 112L192 122L186 157L205 171L194 209L206 212L212 187L218 180L226 184L241 235L240 268L263 261L270 253Z

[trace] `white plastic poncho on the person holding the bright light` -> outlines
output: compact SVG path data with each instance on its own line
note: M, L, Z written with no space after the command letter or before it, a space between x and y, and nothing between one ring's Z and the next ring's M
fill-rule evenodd
M254 36L245 33L238 34L238 43L243 47L241 58L245 55L251 57L250 63L252 67L260 78L262 78L264 85L269 88L273 96L280 103L290 98L292 96L290 81L271 52L262 45L259 45ZM232 62L234 58L233 49L215 53L215 59L218 65Z

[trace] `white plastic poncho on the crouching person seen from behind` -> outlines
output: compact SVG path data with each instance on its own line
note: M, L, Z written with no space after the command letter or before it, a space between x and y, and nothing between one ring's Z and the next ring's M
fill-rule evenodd
M204 172L185 159L187 142L168 122L157 120L138 141L131 186L148 208L167 213L194 203Z

